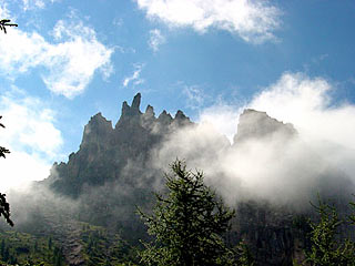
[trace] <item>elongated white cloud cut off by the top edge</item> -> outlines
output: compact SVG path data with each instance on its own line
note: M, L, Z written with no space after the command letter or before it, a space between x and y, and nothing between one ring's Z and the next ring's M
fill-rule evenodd
M135 0L151 19L171 27L192 27L199 32L217 28L245 41L274 38L281 11L268 1L251 0Z

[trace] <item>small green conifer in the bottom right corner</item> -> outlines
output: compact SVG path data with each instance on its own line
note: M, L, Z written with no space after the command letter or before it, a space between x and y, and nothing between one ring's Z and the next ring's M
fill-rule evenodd
M310 221L311 250L305 253L305 263L317 266L355 265L354 243L341 239L338 228L344 223L334 206L318 198L318 206L313 205L320 221Z

